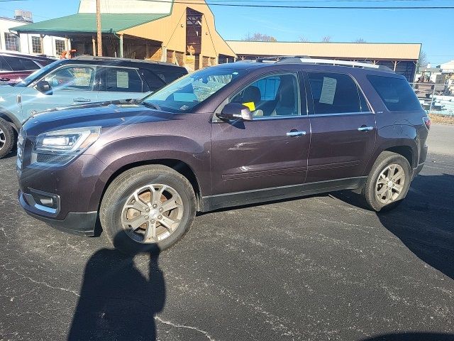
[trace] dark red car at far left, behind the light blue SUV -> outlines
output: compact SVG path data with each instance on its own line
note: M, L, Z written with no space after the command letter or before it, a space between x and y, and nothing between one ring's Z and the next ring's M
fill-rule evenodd
M0 85L14 85L36 70L55 62L55 59L26 55L24 53L0 52Z

